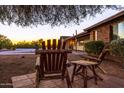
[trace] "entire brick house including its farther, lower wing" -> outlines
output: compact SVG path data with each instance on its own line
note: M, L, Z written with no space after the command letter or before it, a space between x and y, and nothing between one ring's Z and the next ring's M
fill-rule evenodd
M118 38L124 38L124 11L84 29L84 32L68 38L66 41L69 45L69 42L73 40L76 43L73 44L73 47L79 47L83 45L80 42L102 40L108 43ZM83 50L83 48L75 49Z

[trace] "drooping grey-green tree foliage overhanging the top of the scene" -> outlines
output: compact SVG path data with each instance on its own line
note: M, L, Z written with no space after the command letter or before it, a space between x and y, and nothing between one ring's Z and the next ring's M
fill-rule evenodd
M21 26L79 24L87 15L95 16L116 5L1 5L0 22Z

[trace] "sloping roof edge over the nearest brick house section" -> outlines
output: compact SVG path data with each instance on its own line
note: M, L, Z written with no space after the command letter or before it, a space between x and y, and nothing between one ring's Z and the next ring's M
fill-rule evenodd
M96 24L94 24L94 25L92 25L92 26L90 26L90 27L88 27L86 29L84 29L84 31L88 31L88 30L90 30L90 29L92 29L94 27L100 26L101 24L107 23L107 22L112 21L112 20L114 20L114 19L116 19L118 17L121 17L121 16L124 16L124 10L119 12L119 13L117 13L117 14L115 14L115 15L113 15L113 16L111 16L111 17L109 17L109 18L107 18L107 19L104 19L104 20L102 20L102 21L100 21L100 22L98 22L98 23L96 23Z

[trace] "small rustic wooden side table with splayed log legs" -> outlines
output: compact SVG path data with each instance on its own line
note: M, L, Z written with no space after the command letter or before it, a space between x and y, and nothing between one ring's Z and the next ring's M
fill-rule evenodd
M95 84L97 84L97 77L99 77L95 71L95 66L98 65L97 62L93 62L93 61L87 61L87 60L78 60L78 61L71 61L71 63L74 65L74 69L73 69L73 74L72 74L72 79L71 81L74 81L74 76L75 75L81 75L83 76L84 79L84 88L87 87L87 81L89 79L94 79ZM77 66L79 66L79 68L77 69ZM87 75L87 69L91 69L93 76L89 77ZM82 69L82 72L79 72Z

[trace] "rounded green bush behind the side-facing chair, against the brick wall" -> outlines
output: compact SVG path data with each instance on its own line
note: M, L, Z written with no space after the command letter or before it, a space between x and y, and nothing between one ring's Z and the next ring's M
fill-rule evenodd
M104 47L103 41L89 41L84 44L85 51L89 54L100 54Z

